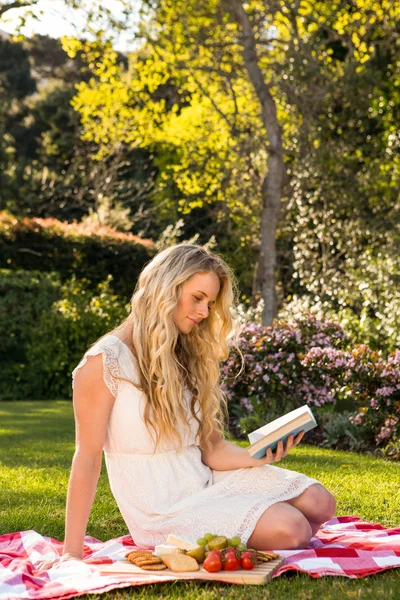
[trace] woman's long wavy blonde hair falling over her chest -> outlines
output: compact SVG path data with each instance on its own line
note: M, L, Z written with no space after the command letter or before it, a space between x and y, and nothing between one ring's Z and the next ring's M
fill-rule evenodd
M172 313L183 285L197 273L214 272L220 281L207 319L181 334ZM188 429L185 388L190 412L198 422L202 447L209 447L214 428L222 433L225 398L219 386L219 361L236 342L237 301L233 272L217 254L196 244L177 244L159 252L140 274L128 318L116 329L131 347L138 364L140 389L146 396L144 421L161 440L182 447ZM196 414L200 408L201 418Z

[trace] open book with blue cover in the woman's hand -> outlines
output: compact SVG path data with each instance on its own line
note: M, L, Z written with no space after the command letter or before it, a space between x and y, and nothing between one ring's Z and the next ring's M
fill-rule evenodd
M279 440L285 442L290 434L296 437L300 431L310 431L316 426L317 421L305 404L249 433L250 446L247 450L253 458L262 458L267 448L275 452Z

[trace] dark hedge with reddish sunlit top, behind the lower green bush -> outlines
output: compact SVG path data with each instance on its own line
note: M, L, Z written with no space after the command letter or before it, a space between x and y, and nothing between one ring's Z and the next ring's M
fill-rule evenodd
M17 219L0 212L0 268L59 273L96 286L112 275L112 289L128 299L143 266L156 252L151 240L111 227Z

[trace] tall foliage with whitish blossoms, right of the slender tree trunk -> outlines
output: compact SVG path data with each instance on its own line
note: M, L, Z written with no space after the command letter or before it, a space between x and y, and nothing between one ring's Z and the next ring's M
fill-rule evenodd
M400 341L395 84L400 63L393 27L398 9L388 3L387 19L376 9L372 14L366 4L359 7L358 25L363 25L352 35L356 45L364 36L365 45L363 59L352 67L349 57L355 48L343 22L350 23L353 16L342 12L337 30L346 29L347 49L345 56L336 56L340 77L327 81L312 115L306 105L298 107L304 126L291 146L293 193L280 244L292 257L282 300L289 302L284 314L303 305L320 317L337 315L358 342L393 350ZM303 59L305 47L297 61ZM291 76L296 80L296 68Z

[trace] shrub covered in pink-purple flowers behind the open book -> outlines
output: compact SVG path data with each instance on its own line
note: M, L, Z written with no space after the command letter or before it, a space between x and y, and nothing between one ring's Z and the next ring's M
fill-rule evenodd
M400 351L385 360L366 345L348 348L342 328L309 315L294 323L243 327L239 349L222 368L230 426L236 435L308 404L326 421L327 408L350 401L352 447L384 447L400 437ZM241 371L242 369L242 371ZM329 417L328 417L329 418ZM356 426L356 427L354 427Z

